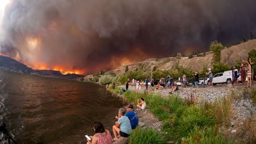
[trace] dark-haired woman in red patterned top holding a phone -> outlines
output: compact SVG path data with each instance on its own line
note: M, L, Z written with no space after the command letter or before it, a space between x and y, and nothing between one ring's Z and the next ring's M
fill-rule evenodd
M104 129L103 124L100 122L95 122L93 124L93 129L95 132L95 135L90 137L90 139L87 138L87 144L111 144L112 143L112 136L109 130ZM87 136L85 136L87 137Z

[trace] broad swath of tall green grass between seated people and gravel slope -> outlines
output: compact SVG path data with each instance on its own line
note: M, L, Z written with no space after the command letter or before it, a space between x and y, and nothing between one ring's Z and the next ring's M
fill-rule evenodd
M132 91L124 92L126 100L137 103L143 97L148 109L163 122L162 130L167 132L165 140L175 140L185 143L225 143L218 132L220 126L229 126L231 117L231 102L229 100L218 103L188 105L183 99L170 95L142 94Z

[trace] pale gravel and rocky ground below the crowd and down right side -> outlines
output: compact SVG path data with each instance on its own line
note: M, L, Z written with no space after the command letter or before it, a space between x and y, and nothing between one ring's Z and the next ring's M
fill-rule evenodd
M124 89L124 85L119 86ZM229 117L228 126L222 127L222 132L225 132L225 136L233 137L239 142L247 142L248 139L255 138L255 130L251 126L255 126L256 118L256 107L252 100L253 88L238 87L233 88L229 85L225 87L205 87L205 88L179 88L178 91L174 92L177 97L183 98L184 100L190 100L191 95L198 98L196 104L204 103L220 103L224 100L231 102L231 117ZM148 91L145 87L137 91L135 87L130 86L130 91L136 91L139 93L148 92L149 94L159 94L163 98L168 98L170 88L155 89L155 87L149 87ZM122 95L119 94L122 97ZM140 127L152 127L153 129L161 131L162 121L159 121L149 110L137 111L140 116Z

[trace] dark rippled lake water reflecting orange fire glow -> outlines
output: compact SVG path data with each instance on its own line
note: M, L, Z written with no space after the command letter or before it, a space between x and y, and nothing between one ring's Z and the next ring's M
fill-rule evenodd
M97 84L0 71L0 120L18 143L85 143L121 106Z

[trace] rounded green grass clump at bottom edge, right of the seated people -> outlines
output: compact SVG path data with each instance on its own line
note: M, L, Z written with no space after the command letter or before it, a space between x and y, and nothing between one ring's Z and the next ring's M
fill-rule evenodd
M129 144L155 144L155 143L167 143L162 139L161 133L153 129L140 129L137 127L129 137Z

